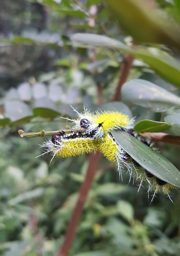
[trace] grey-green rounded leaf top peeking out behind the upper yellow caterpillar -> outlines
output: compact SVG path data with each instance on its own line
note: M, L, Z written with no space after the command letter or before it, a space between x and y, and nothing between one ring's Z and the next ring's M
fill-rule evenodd
M128 108L128 106L126 106L122 102L115 102L114 101L114 102L105 103L105 104L100 106L100 109L102 111L118 111L118 112L122 112L123 114L126 114L130 118L132 118L132 113L131 113L130 109Z

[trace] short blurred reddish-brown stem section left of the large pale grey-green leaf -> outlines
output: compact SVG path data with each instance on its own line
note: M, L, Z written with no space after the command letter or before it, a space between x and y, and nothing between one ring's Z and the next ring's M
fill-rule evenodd
M128 53L125 54L124 61L120 66L119 82L116 88L116 92L114 94L114 99L113 99L114 101L120 100L121 87L127 80L133 60L134 60L134 57L132 55L129 55Z

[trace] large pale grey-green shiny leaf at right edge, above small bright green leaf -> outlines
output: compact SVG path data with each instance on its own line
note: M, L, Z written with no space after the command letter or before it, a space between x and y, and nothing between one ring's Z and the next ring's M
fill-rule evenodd
M163 112L168 107L180 106L180 98L171 92L143 79L133 79L123 84L123 101Z

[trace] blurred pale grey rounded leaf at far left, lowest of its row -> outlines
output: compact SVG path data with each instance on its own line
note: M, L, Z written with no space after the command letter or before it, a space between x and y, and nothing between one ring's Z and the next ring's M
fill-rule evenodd
M17 121L29 116L33 116L29 106L22 101L12 100L5 102L5 112L11 121Z

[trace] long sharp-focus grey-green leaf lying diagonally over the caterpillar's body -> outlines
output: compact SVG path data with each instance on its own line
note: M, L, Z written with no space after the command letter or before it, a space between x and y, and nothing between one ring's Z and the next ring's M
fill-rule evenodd
M112 131L117 143L144 169L174 186L180 187L180 171L163 155L124 131Z

